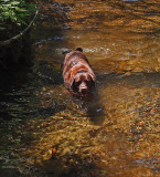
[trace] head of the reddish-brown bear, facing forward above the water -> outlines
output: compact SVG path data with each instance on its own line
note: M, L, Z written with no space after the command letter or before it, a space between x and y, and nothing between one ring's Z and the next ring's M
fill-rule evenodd
M72 88L81 96L87 96L95 87L95 76L88 72L76 73L72 83Z

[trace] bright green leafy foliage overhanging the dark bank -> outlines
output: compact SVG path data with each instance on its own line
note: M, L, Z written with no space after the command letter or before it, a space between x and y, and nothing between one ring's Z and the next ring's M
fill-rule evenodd
M26 0L0 0L0 30L6 29L7 23L10 22L26 25L33 11L35 11L35 4L26 3Z

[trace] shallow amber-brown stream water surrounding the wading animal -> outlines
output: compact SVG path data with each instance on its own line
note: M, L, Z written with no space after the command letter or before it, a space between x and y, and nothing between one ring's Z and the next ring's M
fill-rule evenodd
M1 74L0 176L160 176L160 2L39 1L35 64ZM63 86L63 52L83 48L97 92Z

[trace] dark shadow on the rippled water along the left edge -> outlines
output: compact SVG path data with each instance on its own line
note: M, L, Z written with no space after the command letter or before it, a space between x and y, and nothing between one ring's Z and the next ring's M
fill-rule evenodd
M62 84L60 74L49 63L38 61L31 67L0 72L0 176L21 176L14 167L18 156L13 152L21 144L23 125L34 117L43 118L65 108L56 104L55 97L44 107L36 95L44 85ZM25 139L32 137L26 135Z

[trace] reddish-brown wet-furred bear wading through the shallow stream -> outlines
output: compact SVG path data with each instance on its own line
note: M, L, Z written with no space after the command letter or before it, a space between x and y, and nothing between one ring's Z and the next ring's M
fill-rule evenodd
M81 96L87 96L95 87L96 76L81 48L66 54L63 79L65 87Z

